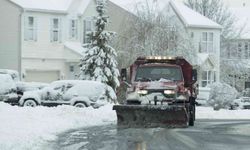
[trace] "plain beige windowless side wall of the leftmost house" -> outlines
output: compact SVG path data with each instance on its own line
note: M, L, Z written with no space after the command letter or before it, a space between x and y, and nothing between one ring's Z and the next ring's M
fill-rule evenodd
M0 2L0 68L21 71L21 12L10 2ZM11 13L10 13L11 12Z

